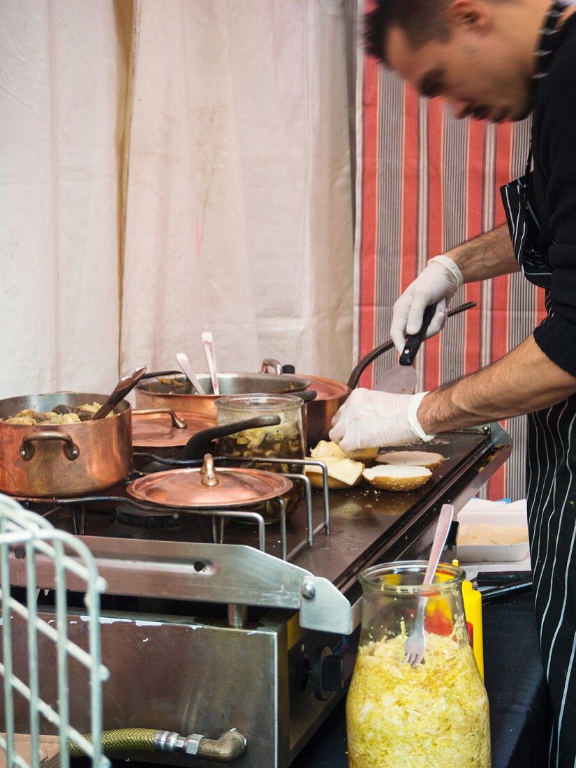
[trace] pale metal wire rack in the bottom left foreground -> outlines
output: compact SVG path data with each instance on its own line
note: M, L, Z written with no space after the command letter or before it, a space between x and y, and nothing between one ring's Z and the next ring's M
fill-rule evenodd
M11 595L8 553L16 551L17 557L25 557L25 601ZM70 551L73 556L68 556ZM38 617L36 600L36 554L42 554L53 564L55 573L55 627ZM74 558L74 559L73 559ZM72 643L67 635L68 574L81 580L86 605L88 652ZM84 590L85 584L85 590ZM81 747L91 758L94 766L108 766L109 760L101 749L102 699L101 684L108 679L108 670L101 664L100 650L100 596L106 582L98 576L98 570L88 548L65 531L58 531L35 512L26 511L12 498L0 495L0 601L2 601L2 650L3 663L0 674L4 677L4 735L0 735L0 748L5 751L7 768L39 768L40 717L44 717L58 729L60 754L58 764L69 766L68 740ZM12 618L20 617L27 625L28 680L15 674L12 665ZM38 633L44 634L55 646L55 676L58 679L58 702L42 700L38 675ZM70 723L74 702L68 697L68 663L74 659L88 670L90 680L91 740L85 739ZM24 675L22 676L24 677ZM15 748L14 697L19 694L28 700L30 763ZM54 706L53 706L54 704Z

